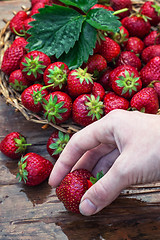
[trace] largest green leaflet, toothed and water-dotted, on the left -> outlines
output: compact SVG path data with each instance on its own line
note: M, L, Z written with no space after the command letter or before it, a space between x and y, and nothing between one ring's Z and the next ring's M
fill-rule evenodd
M30 23L27 48L57 58L68 53L79 39L84 17L72 8L59 5L45 6L39 12L34 15L36 21Z

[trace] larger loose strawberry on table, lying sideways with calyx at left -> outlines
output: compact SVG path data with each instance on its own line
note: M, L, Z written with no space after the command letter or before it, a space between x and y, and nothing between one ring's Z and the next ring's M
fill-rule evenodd
M28 186L36 186L46 180L53 168L53 164L44 157L29 152L18 162L17 178Z

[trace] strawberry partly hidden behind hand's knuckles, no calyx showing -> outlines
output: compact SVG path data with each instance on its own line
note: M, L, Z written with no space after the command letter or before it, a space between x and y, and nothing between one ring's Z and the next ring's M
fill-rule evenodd
M106 93L104 96L103 104L105 115L114 109L127 110L129 108L129 101L121 96L118 96L114 92Z

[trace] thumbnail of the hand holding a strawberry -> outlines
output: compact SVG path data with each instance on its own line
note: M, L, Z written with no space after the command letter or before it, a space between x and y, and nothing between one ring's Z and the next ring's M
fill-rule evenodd
M84 199L79 205L79 211L82 215L90 216L94 214L97 207L88 198Z

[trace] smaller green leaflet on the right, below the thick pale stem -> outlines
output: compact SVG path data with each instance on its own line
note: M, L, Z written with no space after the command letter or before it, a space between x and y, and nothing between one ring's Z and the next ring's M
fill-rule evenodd
M114 16L111 11L103 8L92 9L88 12L86 21L96 29L118 32L121 22L118 17Z

